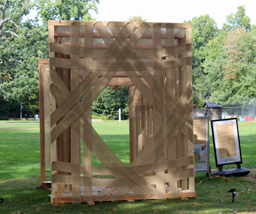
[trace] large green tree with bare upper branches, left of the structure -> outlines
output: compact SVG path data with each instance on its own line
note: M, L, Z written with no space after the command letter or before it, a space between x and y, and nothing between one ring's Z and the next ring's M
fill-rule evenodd
M38 58L48 56L47 31L31 20L30 1L6 0L1 5L0 113L38 112Z

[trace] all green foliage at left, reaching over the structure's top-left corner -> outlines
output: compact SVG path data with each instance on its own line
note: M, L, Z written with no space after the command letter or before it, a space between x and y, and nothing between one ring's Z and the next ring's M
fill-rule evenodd
M96 3L99 1L35 2L44 20L55 19L57 16L63 19L88 20L91 19L89 10L97 12ZM22 17L27 15L35 4L29 0L0 2L0 114L2 115L18 113L21 102L23 102L23 112L39 112L38 59L49 58L48 32L46 27L38 24L37 18L22 22ZM57 10L53 8L55 6Z

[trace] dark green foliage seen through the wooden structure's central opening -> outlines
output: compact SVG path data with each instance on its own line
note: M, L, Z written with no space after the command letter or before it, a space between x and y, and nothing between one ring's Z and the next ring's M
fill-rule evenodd
M121 108L122 119L129 117L129 87L127 86L120 87L118 91L115 91L114 87L105 87L92 104L93 114L109 116L111 120L118 118L119 108Z

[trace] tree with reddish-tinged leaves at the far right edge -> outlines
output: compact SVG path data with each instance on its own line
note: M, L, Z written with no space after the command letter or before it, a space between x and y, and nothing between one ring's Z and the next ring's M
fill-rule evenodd
M223 51L207 60L205 73L211 85L211 101L255 103L256 31L238 28L228 33Z

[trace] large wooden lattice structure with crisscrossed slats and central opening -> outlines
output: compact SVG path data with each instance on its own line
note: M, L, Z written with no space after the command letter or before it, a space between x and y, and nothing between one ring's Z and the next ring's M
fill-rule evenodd
M51 202L195 197L191 24L50 20L49 50L39 88ZM130 87L129 166L92 127L105 86Z

